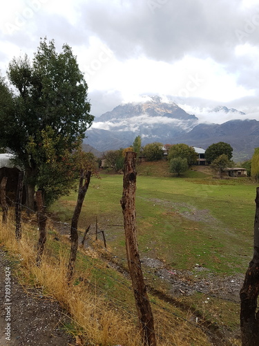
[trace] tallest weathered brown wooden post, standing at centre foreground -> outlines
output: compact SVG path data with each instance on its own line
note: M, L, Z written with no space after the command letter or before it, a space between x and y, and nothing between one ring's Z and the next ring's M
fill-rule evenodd
M124 230L126 237L126 253L128 268L131 274L135 304L140 321L142 341L144 345L155 346L155 331L153 313L146 293L146 285L140 264L140 254L137 244L137 222L135 212L136 165L135 152L127 152L124 163L123 194L121 199L124 215Z

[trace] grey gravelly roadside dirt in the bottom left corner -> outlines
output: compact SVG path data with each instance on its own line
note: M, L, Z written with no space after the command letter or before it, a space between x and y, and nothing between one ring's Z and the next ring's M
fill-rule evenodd
M0 345L76 345L75 339L64 330L64 325L68 324L70 319L58 302L44 297L36 289L23 289L14 275L14 264L1 249L0 266ZM6 280L11 290L7 295L9 287L6 286Z

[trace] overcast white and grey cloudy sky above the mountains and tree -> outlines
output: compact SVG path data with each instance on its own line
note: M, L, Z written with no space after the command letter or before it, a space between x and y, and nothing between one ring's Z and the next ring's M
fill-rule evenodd
M0 18L1 73L40 37L68 43L94 116L161 95L259 120L259 0L11 0Z

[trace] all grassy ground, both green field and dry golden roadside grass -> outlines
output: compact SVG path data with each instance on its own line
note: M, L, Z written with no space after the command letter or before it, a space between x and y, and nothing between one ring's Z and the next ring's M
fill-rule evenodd
M253 221L256 185L250 179L216 179L198 167L181 177L168 173L165 161L137 167L137 230L142 259L160 260L167 271L195 272L199 277L244 275L253 253ZM75 280L66 285L70 251L67 237L48 224L48 239L41 268L35 266L36 219L23 224L23 238L14 242L15 226L0 225L0 244L13 255L17 273L25 285L59 300L71 316L71 333L84 345L140 346L137 316L124 245L120 199L122 174L102 172L92 178L79 219L81 236L91 224L88 244L79 246ZM63 197L49 211L50 219L68 223L77 192ZM104 230L95 242L95 219ZM59 224L61 225L61 224ZM155 331L161 346L240 346L239 310L236 300L222 300L196 291L170 296L169 282L160 280L155 268L143 265L148 296L155 316ZM197 275L196 275L197 276ZM223 279L222 279L223 278ZM161 293L161 294L160 294ZM229 295L231 298L231 294Z

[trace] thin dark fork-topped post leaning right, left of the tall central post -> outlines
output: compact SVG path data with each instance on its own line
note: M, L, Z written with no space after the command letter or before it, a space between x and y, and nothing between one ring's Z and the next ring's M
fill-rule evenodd
M70 250L70 258L68 262L68 282L71 281L73 277L73 273L74 273L74 266L75 266L75 260L77 257L77 248L78 248L77 224L78 224L78 219L81 212L81 207L84 203L84 197L86 196L86 192L88 190L88 186L90 183L90 176L91 176L91 172L88 171L86 174L86 181L83 186L84 171L81 172L78 197L77 197L77 205L75 206L75 211L72 217L71 228L70 228L71 250Z

